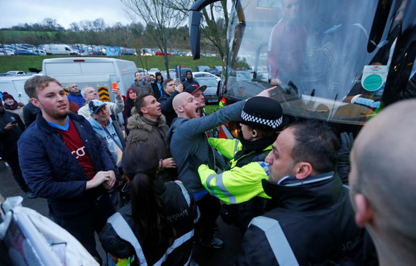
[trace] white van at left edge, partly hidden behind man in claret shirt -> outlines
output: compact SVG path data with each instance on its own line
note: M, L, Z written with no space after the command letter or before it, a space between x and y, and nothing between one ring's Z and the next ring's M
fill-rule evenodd
M19 103L28 103L29 97L24 92L24 82L33 76L0 77L0 91L7 92Z

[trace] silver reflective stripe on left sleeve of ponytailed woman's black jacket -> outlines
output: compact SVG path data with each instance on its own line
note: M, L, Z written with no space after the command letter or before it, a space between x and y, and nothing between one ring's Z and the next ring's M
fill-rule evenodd
M144 258L144 253L141 249L139 240L137 240L135 233L133 233L128 223L125 222L123 216L120 213L114 213L110 218L108 218L107 222L112 225L114 231L116 231L117 235L119 235L121 239L132 245L136 251L140 266L147 266L146 258Z

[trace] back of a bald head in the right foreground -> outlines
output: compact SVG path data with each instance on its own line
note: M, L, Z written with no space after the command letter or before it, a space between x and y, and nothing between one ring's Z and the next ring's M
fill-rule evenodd
M380 265L416 264L416 100L373 118L350 155L350 197L356 223L376 245Z

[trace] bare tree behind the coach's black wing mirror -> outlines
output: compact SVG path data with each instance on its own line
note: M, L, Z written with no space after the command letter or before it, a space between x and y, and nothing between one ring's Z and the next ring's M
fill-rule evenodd
M189 8L197 0L167 0L167 5L173 10L188 15ZM222 0L211 3L202 9L204 22L201 24L202 41L208 46L214 46L220 54L223 64L227 62L228 46L227 46L227 25L228 10L227 1Z

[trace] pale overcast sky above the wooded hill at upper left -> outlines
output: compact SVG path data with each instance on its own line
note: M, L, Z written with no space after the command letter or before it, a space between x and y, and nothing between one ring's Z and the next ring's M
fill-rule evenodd
M102 17L105 24L129 24L118 0L0 0L0 28L33 24L44 18L56 19L69 28L72 22Z

